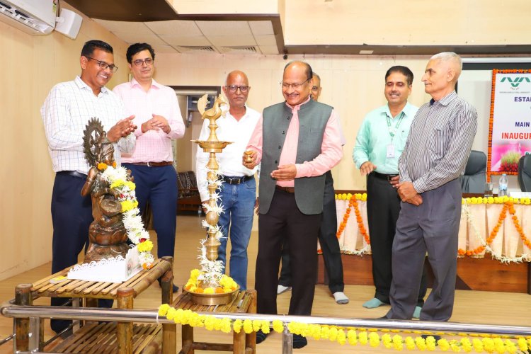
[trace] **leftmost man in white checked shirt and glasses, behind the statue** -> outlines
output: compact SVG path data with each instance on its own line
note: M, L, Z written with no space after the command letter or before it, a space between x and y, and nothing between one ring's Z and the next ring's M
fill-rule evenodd
M107 137L114 143L115 161L120 151L135 148L134 115L126 117L122 101L105 87L118 67L113 47L101 40L89 40L81 50L81 76L62 82L48 94L40 114L45 125L48 151L55 171L52 192L52 273L77 263L77 256L89 244L89 226L93 220L90 194L82 197L89 165L83 152L83 131L90 118L101 120ZM60 306L67 298L52 298ZM101 307L111 307L112 300L100 300ZM72 321L51 320L59 333Z

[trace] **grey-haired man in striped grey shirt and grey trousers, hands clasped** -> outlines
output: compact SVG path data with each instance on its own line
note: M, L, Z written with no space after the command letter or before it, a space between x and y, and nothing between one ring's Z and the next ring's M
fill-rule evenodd
M432 99L416 113L399 159L401 211L393 242L388 319L411 319L426 252L435 281L421 321L452 316L462 194L457 178L477 128L476 109L455 92L461 69L459 55L443 52L430 58L422 76Z

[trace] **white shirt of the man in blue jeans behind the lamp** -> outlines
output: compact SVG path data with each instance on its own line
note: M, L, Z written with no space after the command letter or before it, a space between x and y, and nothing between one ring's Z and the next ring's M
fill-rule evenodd
M260 118L260 113L252 108L246 106L246 112L240 120L236 120L229 112L225 117L221 116L216 120L218 126L216 130L217 139L222 142L232 142L223 149L221 154L216 154L219 164L219 171L223 176L241 177L253 176L258 169L247 169L242 163L241 158L244 156L244 151L247 143L251 138L254 127ZM205 119L203 122L199 140L207 140L210 135L209 121ZM198 147L198 152L195 155L195 176L198 179L198 189L201 200L208 200L209 194L207 190L207 166L209 154L203 152Z

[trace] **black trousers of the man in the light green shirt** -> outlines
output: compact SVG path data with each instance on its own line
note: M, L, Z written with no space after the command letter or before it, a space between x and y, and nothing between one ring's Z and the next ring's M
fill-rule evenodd
M400 198L391 183L375 173L367 176L367 221L369 222L372 250L372 279L375 282L375 297L389 304L392 276L392 248L396 220L400 214ZM426 295L426 266L423 268L417 305L424 304Z

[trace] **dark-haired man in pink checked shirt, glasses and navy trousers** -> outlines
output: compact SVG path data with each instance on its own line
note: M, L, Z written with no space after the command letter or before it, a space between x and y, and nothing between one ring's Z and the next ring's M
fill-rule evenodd
M137 184L140 212L149 202L156 232L157 256L173 257L177 214L177 172L173 167L171 140L184 135L184 123L175 91L153 79L155 51L147 43L135 43L125 54L132 73L130 82L114 88L128 112L135 114L137 146L122 154L123 165ZM161 279L159 278L159 284ZM173 292L178 287L173 285Z

